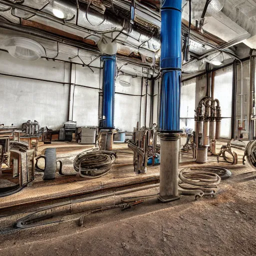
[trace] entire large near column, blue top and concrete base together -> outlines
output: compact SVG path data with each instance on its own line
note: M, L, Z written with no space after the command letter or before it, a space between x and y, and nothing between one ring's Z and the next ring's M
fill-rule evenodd
M161 96L159 135L161 140L160 183L158 199L168 202L179 198L179 103L181 76L181 3L161 3Z

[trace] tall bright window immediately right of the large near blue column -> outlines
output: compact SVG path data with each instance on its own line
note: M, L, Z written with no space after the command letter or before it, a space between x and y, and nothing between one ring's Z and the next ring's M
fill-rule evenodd
M194 130L195 78L184 81L180 87L180 129Z

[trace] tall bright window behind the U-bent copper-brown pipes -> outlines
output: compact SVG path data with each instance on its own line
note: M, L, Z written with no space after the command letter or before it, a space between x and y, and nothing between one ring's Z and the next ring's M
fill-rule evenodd
M214 98L219 100L221 108L220 137L231 138L232 117L232 66L214 72Z

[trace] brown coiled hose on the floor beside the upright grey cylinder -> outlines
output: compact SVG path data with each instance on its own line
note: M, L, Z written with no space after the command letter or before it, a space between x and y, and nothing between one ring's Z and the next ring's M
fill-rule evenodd
M115 158L116 153L109 151L81 152L74 158L73 166L81 177L97 178L110 170Z

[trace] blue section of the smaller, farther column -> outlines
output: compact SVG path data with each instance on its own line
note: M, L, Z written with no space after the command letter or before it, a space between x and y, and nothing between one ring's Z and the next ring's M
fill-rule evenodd
M102 115L105 119L102 120L104 128L114 127L114 79L116 69L115 55L104 55L103 60L103 102Z

